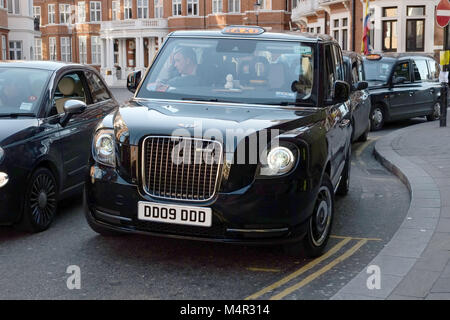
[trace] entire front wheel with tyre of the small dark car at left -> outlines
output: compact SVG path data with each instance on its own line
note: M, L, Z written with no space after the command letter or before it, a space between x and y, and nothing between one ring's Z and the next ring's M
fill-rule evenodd
M59 189L53 173L47 168L36 169L24 197L19 229L32 233L47 230L58 209Z

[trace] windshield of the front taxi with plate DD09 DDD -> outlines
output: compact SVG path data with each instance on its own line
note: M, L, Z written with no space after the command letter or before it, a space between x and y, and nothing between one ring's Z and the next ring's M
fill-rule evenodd
M302 42L170 38L137 97L312 104L314 53Z

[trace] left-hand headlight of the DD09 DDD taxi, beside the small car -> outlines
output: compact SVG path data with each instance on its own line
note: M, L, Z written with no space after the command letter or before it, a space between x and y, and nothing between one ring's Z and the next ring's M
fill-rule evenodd
M116 166L116 152L113 130L100 130L92 141L92 154L98 163L105 166Z

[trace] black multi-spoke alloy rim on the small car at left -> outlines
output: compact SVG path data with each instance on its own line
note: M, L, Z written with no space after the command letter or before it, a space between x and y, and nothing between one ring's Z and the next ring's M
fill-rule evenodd
M30 209L36 224L46 226L51 222L56 209L56 186L47 174L38 175L33 182Z

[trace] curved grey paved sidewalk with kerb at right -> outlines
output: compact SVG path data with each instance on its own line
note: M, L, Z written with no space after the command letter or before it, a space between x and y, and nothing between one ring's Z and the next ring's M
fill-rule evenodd
M409 189L402 225L332 300L450 300L450 117L379 139L375 157Z

